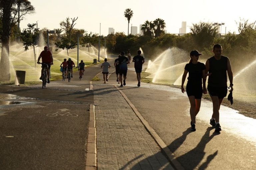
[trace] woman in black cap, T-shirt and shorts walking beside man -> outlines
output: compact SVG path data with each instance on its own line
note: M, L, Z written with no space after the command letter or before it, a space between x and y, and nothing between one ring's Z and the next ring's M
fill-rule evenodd
M196 115L198 114L201 106L201 98L202 94L206 94L205 81L202 87L202 78L205 78L207 75L205 74L205 65L198 61L199 55L202 55L197 50L192 50L190 52L190 61L185 66L185 70L182 76L181 83L181 92L184 93L184 82L188 75L188 83L186 86L187 95L190 102L190 118L191 118L191 130L196 130Z

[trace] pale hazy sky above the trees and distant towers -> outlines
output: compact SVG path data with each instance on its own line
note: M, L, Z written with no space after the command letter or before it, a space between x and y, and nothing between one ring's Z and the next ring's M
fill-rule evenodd
M124 17L127 8L133 10L130 20L133 26L143 24L146 20L161 18L166 23L168 33L179 33L181 22L189 27L200 21L225 23L221 33L237 32L235 21L256 20L256 2L252 0L30 0L35 7L35 14L27 15L20 23L21 30L28 23L36 23L40 29L60 28L59 23L66 17L78 17L74 28L88 32L108 34L108 28L115 32L127 34L128 21ZM129 28L130 32L130 28ZM139 31L138 31L139 33Z

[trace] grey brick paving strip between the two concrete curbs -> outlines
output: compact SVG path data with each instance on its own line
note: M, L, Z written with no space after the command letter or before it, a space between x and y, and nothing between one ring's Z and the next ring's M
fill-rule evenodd
M173 170L129 104L110 84L95 84L98 170Z

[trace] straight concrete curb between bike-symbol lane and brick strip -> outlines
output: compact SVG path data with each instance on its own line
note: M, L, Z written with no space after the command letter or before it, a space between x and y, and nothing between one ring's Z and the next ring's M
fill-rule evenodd
M94 105L90 104L90 121L89 121L88 142L87 142L87 150L86 150L85 170L95 170L95 169L97 169L95 112L94 112Z

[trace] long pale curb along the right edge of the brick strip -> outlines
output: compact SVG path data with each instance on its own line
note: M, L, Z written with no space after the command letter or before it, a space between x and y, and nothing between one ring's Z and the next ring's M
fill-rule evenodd
M109 83L111 84L111 83ZM145 128L149 131L151 136L155 139L157 144L161 147L162 151L166 154L168 159L170 160L172 166L177 170L185 170L185 168L176 160L174 154L172 151L167 147L167 145L164 143L164 141L160 138L160 136L155 132L155 130L148 124L148 122L142 117L142 115L139 113L139 111L136 109L136 107L132 104L132 102L128 99L128 97L124 94L122 90L118 88L117 85L112 84L115 86L115 88L121 93L121 95L124 97L126 102L130 105L134 113L138 116L140 121L143 123Z

